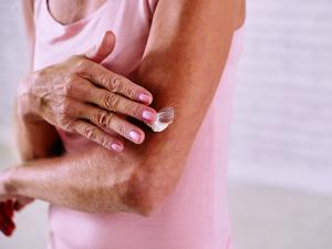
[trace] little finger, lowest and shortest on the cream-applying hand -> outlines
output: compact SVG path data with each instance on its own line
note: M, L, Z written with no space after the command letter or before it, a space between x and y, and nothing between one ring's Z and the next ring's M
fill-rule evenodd
M117 153L124 149L123 143L120 139L112 137L110 134L86 121L74 121L72 129L105 148L113 149Z

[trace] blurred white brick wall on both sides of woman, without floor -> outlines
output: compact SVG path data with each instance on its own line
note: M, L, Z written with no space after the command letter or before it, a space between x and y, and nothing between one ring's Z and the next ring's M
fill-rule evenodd
M0 1L0 141L27 64L19 2ZM248 0L232 179L332 193L331 79L331 0Z

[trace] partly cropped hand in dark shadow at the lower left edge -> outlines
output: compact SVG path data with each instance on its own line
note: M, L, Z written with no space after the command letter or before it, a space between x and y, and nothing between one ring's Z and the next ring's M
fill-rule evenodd
M11 196L9 186L9 177L7 172L0 173L0 231L4 236L11 236L15 229L13 221L14 211L21 210L33 199L24 196Z

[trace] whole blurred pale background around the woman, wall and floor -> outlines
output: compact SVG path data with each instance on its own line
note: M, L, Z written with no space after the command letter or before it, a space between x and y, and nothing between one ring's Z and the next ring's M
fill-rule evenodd
M238 249L332 248L332 1L248 0L231 132ZM0 168L17 160L11 110L27 69L20 0L0 1ZM46 205L1 249L44 249Z

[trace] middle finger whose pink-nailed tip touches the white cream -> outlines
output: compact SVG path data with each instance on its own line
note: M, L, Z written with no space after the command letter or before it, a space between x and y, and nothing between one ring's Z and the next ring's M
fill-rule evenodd
M82 102L89 102L100 107L125 114L136 120L153 123L156 120L157 112L144 104L128 100L116 93L112 93L104 89L97 89L90 84L86 80L82 79L80 86L73 91L73 97Z

